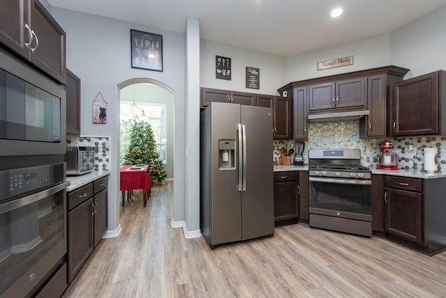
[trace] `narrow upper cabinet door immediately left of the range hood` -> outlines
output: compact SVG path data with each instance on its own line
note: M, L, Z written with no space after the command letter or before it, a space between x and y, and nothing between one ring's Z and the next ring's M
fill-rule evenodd
M308 87L294 88L293 96L293 134L295 140L308 139L307 125L308 125Z

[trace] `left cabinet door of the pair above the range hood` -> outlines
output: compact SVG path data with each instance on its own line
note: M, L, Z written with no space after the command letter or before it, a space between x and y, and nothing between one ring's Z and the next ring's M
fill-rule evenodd
M309 110L334 108L334 81L309 86Z

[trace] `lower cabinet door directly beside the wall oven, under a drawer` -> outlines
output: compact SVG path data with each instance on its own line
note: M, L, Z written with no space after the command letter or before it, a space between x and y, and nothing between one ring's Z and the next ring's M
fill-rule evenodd
M93 251L93 198L68 212L68 283Z

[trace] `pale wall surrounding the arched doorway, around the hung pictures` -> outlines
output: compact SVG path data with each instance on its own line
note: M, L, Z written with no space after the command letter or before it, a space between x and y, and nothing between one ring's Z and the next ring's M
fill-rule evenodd
M52 8L52 15L66 31L67 66L81 78L82 134L111 136L109 179L109 230L119 226L118 189L118 97L117 85L134 78L161 81L175 91L175 168L174 196L184 201L185 185L185 36L162 29L98 17L72 10ZM164 71L155 72L130 67L130 29L161 34ZM102 93L107 106L107 124L92 123L92 102ZM175 216L184 220L184 205L176 204Z

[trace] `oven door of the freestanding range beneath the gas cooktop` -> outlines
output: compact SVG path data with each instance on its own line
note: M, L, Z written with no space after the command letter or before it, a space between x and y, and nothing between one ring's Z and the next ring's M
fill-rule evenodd
M371 221L371 180L309 178L309 213Z

